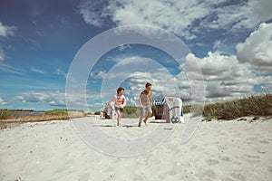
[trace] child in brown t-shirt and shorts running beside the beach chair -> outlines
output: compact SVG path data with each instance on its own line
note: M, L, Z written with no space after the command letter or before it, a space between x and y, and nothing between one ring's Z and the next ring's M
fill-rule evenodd
M139 102L140 102L140 107L141 107L141 117L139 120L138 127L141 127L141 120L143 119L145 115L145 110L148 111L148 115L143 119L144 124L147 126L147 120L151 117L152 115L152 101L151 101L151 83L146 83L145 84L145 90L143 90L140 94Z

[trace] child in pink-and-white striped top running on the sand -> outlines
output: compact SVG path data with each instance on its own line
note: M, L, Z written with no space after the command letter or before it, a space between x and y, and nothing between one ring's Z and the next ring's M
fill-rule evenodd
M114 109L117 113L117 126L119 127L120 125L120 119L122 116L122 110L123 107L126 106L126 98L122 95L123 94L124 89L122 87L119 87L117 89L117 94L115 96L112 97L111 100L107 101L107 104L110 104L110 102L114 101Z

